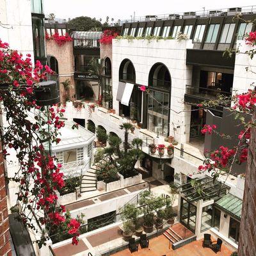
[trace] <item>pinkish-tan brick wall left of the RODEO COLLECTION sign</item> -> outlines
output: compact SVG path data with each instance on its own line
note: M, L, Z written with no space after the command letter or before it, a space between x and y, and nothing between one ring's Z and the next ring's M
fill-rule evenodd
M71 81L69 89L70 100L76 99L73 43L66 42L60 46L56 44L54 40L46 40L46 52L47 56L54 56L58 61L61 102L65 102L63 97L63 95L65 95L65 90L61 83L67 79L70 79Z

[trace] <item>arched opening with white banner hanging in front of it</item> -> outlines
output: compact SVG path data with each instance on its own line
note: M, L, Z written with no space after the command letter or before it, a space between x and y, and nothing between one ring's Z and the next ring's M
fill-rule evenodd
M136 85L136 72L131 60L125 59L120 64L119 81L125 83L124 87L127 86L127 83L134 84L131 96L129 96L130 99L128 106L122 104L122 99L118 99L120 101L119 115L141 122L142 93L140 88ZM123 93L124 92L125 90L123 90Z

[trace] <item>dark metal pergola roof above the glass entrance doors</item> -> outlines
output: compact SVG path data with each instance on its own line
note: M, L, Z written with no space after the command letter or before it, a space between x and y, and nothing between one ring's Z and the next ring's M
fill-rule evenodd
M227 185L211 177L205 176L202 179L196 180L196 188L200 188L201 192L191 185L191 182L183 184L178 187L180 193L184 195L188 202L195 202L198 200L217 200L227 194L230 189Z

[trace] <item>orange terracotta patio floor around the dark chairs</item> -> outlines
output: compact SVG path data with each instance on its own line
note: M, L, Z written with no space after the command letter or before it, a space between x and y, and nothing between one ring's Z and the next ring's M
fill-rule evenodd
M221 246L221 252L214 253L210 248L203 248L202 240L186 244L175 251L169 249L169 241L163 235L150 239L149 248L141 249L131 253L129 249L113 254L113 256L230 256L232 252L226 247Z

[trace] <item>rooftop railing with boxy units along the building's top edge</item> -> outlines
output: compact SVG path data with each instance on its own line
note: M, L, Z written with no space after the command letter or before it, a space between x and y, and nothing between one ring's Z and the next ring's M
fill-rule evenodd
M222 8L216 10L199 10L195 12L182 12L182 13L165 13L157 15L147 15L147 16L134 16L130 19L120 20L120 24L127 22L141 22L141 21L154 21L154 20L173 20L173 19L186 19L186 18L209 18L218 16L228 16L236 15L237 13L251 14L256 13L256 5L243 6L235 8Z

